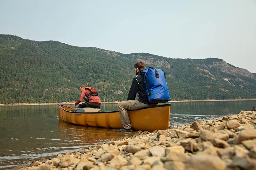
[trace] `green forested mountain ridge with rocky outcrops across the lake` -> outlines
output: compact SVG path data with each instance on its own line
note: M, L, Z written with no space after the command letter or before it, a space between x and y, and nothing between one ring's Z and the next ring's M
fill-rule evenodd
M256 98L255 74L222 59L122 54L0 34L0 103L76 101L80 85L96 88L102 101L126 100L138 60L166 72L171 100Z

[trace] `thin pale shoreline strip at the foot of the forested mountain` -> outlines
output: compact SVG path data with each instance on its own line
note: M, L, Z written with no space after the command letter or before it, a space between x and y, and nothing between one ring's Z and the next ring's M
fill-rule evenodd
M246 100L256 100L256 99L230 99L230 100L172 100L171 102L193 102L193 101L246 101ZM63 104L63 105L72 105L75 104L76 101L73 102L60 102L60 103L6 103L6 104L0 104L0 106L26 106L26 105L57 105L57 104ZM119 103L119 101L113 101L113 102L101 102L102 104L115 104Z

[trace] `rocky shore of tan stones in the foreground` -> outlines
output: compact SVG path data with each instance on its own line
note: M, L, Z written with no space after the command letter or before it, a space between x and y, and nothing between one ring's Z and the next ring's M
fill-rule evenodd
M132 137L14 170L256 170L256 111L138 131Z

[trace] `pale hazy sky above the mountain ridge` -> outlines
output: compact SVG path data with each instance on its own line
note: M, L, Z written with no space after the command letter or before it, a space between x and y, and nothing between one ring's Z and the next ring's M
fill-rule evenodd
M256 0L0 0L0 33L256 73Z

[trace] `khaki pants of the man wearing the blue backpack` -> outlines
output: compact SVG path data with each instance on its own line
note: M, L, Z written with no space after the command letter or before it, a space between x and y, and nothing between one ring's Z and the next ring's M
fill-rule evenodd
M121 101L120 103L118 103L117 108L118 108L119 115L124 128L130 129L132 127L127 110L137 110L144 107L156 106L156 105L157 104L147 105L147 104L141 103L139 100L127 100L127 101Z

